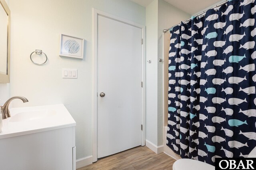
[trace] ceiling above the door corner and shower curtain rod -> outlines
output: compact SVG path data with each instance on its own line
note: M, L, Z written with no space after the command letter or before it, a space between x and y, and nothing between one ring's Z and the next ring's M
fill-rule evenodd
M131 0L131 1L146 7L154 0ZM210 6L218 4L218 2L219 3L221 2L220 0L164 0L164 1L168 2L172 6L175 6L176 8L179 8L180 10L186 11L190 15L201 12L202 10L205 10Z

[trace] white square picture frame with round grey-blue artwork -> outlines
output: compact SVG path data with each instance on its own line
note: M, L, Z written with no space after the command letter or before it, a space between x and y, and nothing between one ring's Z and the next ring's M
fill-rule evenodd
M84 39L67 34L60 34L59 56L83 59Z

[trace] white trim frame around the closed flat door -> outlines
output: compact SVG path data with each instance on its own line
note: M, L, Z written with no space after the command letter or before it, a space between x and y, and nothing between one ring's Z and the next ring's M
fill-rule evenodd
M142 29L142 134L141 134L141 145L145 146L145 136L146 136L146 34L145 29L146 26L132 22L130 20L126 20L124 18L120 18L118 16L114 16L107 12L103 12L101 10L97 10L92 8L92 34L93 34L93 116L92 116L92 162L96 162L98 160L98 16L104 16L106 18L110 18L112 20L116 20L118 22L122 22L124 24L128 24L131 26L135 26L137 28Z

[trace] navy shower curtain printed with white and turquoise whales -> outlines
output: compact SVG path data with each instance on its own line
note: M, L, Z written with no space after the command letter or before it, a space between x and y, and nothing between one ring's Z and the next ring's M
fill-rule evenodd
M255 2L231 0L171 31L167 145L214 165L256 146Z

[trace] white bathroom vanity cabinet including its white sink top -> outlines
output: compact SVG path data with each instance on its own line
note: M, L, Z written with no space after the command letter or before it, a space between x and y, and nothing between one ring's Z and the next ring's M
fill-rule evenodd
M12 122L12 117L3 120L3 131L0 133L0 170L76 169L76 122L64 105L40 107L43 106L30 107L30 111L19 108L10 112L15 116L15 113L25 115L34 110L40 110L42 114L46 110L60 110L49 118L22 118L21 122Z

